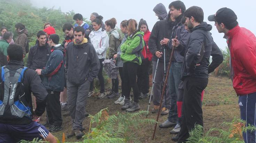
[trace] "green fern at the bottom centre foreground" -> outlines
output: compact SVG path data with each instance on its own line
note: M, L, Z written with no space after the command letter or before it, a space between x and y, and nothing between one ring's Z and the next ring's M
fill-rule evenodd
M84 136L86 143L123 143L140 142L132 134L132 129L140 128L141 124L154 124L153 119L141 119L147 111L138 113L119 113L108 115L108 109L102 109L91 118L89 133ZM93 128L92 125L95 124Z

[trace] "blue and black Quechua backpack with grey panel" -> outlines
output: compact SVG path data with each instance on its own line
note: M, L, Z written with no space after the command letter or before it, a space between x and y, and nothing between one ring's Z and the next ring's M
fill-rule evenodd
M23 75L28 69L20 68L9 70L6 66L1 68L0 78L0 120L13 120L17 118L31 118L31 108L25 99Z

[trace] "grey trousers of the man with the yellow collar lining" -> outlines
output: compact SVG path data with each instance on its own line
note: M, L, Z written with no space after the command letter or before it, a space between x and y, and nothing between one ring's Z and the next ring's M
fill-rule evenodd
M67 80L68 108L74 130L82 129L89 88L90 81L88 80L78 86Z

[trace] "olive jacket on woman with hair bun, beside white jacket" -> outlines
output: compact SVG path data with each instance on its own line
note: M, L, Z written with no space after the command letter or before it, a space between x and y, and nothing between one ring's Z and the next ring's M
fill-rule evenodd
M113 59L113 56L117 53L119 45L122 43L122 36L116 29L112 29L109 32L109 48L108 58Z

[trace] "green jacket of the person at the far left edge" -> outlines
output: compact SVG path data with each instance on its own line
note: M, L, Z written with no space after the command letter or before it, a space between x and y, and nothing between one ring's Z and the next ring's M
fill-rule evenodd
M7 48L9 43L5 39L0 39L0 67L7 65Z

